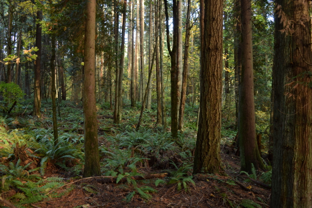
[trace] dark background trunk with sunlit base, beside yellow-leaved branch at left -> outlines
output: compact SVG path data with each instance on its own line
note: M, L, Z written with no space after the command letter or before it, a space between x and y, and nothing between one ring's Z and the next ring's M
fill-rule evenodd
M42 11L37 11L37 20L42 20ZM41 69L40 69L40 61L41 61L41 24L36 24L36 47L39 49L35 52L37 55L37 59L35 61L35 69L34 69L34 105L33 105L33 115L41 117L40 108L41 108Z

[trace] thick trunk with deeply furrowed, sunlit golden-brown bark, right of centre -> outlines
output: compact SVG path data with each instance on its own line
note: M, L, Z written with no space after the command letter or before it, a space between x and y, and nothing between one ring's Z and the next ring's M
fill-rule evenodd
M204 0L204 31L200 70L200 116L194 174L219 173L221 168L221 96L223 1ZM202 12L201 12L202 14Z

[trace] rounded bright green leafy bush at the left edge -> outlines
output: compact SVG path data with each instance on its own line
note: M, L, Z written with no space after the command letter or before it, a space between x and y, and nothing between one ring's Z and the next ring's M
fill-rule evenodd
M19 108L25 95L17 84L5 82L0 82L0 93L3 96L3 100L0 101L0 109L3 112L7 112L15 101Z

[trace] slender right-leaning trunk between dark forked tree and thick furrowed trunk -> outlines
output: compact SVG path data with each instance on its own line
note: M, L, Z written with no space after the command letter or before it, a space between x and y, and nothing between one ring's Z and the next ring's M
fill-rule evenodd
M190 44L190 13L191 13L191 0L188 0L187 14L186 14L186 31L185 31L185 48L184 48L184 62L183 62L183 74L182 74L182 89L181 89L181 101L179 108L179 125L178 130L183 129L184 109L186 100L186 88L187 79L189 74L189 44Z

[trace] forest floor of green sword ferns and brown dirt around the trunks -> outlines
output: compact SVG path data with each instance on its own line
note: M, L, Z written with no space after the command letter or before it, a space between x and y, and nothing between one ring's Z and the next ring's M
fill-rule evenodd
M0 178L2 178L0 197L9 200L17 207L266 208L270 205L271 190L264 188L268 186L265 183L270 184L268 181L270 171L265 173L254 170L254 173L250 175L240 172L240 158L235 155L236 148L231 146L236 132L227 130L233 127L231 123L226 124L222 133L223 174L192 176L197 107L186 109L188 111L186 112L186 130L183 135L180 135L179 141L172 142L170 133L160 133L158 127L155 127L155 110L145 112L141 131L134 132L139 116L138 110L125 109L121 124L116 125L112 122L112 111L107 106L99 106L98 142L101 172L103 176L121 174L121 178L126 178L126 181L120 181L117 184L103 182L96 177L88 179L81 177L83 170L81 108L65 102L61 111L62 119L58 120L59 140L66 147L75 149L77 153L70 156L76 159L60 154L57 152L59 149L53 149L50 104L46 103L42 109L41 119L21 115L4 117L0 120L2 131L0 131L0 165L2 165L0 167L2 168L0 169ZM4 128L10 133L3 133ZM17 137L16 135L19 134L21 136ZM45 146L45 149L40 148L40 145ZM45 151L42 151L43 149ZM71 151L71 149L68 150ZM5 157L6 152L10 155ZM51 152L53 154L50 154ZM34 159L35 153L38 154ZM63 158L62 161L61 158ZM21 162L19 163L17 159ZM28 171L25 176L24 172L19 170L24 170L22 164L27 164L27 161L28 163L32 161L36 165L24 166ZM42 167L44 172L40 169ZM161 177L161 180L157 178L134 180L136 175L144 177L164 173L167 173L167 176ZM27 192L28 189L31 190L31 186L33 188L33 185L27 181L33 181L29 178L29 174L36 174L39 180L57 177L60 182L55 187L38 191L37 195L41 198L33 200L33 203L24 204L21 202L31 201L22 201L27 199L23 199L18 194L24 193L23 195L30 199L29 193L35 193L33 189ZM24 187L20 188L22 184ZM42 186L38 185L37 189ZM52 197L53 194L54 197ZM58 195L57 198L55 198L56 195ZM3 205L0 203L0 207Z

